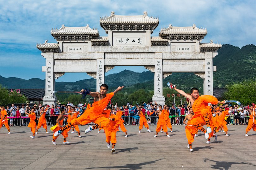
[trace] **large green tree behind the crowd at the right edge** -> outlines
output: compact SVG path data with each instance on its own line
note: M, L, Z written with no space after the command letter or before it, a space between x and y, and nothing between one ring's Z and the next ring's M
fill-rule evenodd
M237 100L243 105L251 105L256 101L256 78L244 80L227 86L228 91L224 93L226 100Z

